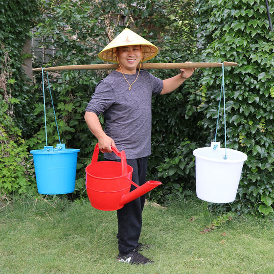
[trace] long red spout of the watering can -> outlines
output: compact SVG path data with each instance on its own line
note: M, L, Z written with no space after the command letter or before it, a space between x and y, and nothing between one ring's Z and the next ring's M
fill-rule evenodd
M129 180L129 179L127 179L127 180L130 181L131 183L133 183L131 180ZM158 186L160 184L161 184L161 182L158 182L158 181L147 181L146 183L142 184L141 186L138 186L133 191L123 195L121 200L120 200L120 205L124 206L125 204L127 204L127 203L137 199L138 197L146 194L147 192L149 192L150 190L152 190L153 188L155 188L156 186Z

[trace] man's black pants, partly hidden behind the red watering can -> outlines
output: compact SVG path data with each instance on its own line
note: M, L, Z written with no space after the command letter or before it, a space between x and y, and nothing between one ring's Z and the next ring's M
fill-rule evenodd
M147 157L128 159L127 164L132 166L132 181L137 185L146 182ZM131 186L131 191L135 189ZM145 195L125 204L117 210L118 220L118 249L120 253L129 253L136 249L142 228L142 211L145 204Z

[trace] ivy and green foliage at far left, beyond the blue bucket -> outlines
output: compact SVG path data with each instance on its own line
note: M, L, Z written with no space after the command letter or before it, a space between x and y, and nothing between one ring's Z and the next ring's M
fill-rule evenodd
M0 192L34 185L24 137L32 128L33 86L22 68L25 39L38 16L36 0L0 0Z

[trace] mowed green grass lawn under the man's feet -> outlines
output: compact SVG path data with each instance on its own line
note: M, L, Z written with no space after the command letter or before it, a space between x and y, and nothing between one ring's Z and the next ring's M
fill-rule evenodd
M273 274L274 224L233 217L201 233L217 215L203 217L202 202L145 206L141 252L151 265L118 263L115 211L89 202L24 198L0 203L0 273L3 274ZM3 200L2 200L3 202ZM192 216L200 216L190 221Z

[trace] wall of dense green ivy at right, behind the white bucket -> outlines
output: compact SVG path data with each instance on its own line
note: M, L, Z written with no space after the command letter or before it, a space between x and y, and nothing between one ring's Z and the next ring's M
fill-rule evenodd
M270 14L274 6L270 5ZM234 209L273 211L274 202L274 32L264 0L199 0L196 20L201 61L238 62L225 69L228 147L248 155ZM204 70L199 111L207 134L214 139L221 70ZM218 140L224 146L224 112ZM259 207L258 207L259 206Z

